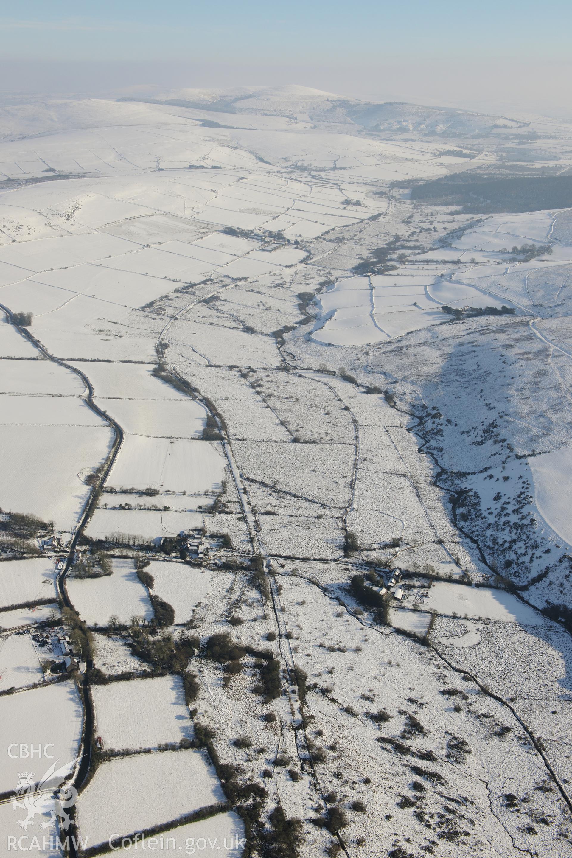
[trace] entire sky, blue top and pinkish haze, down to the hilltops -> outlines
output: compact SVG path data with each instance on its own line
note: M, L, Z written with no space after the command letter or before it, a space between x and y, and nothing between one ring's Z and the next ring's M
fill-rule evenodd
M297 83L370 100L572 113L570 0L0 3L0 93Z

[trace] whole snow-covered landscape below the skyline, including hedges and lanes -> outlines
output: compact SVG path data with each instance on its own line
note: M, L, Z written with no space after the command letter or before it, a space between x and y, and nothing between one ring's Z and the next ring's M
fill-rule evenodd
M564 858L571 128L141 98L0 107L3 746L86 858Z

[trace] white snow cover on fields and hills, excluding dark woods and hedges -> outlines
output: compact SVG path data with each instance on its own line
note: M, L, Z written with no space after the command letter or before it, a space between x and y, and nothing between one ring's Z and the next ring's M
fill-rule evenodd
M528 161L531 172L550 166L565 174L572 165L570 126L370 105L300 87L165 97L215 110L108 100L46 105L31 98L0 106L0 172L9 179L0 191L0 303L33 312L29 333L57 358L76 362L93 382L96 402L125 432L108 480L118 491L100 495L87 535L155 537L204 527L208 534L228 533L234 550L248 555L249 527L256 530L262 552L274 555L280 629L286 624L292 632L292 652L282 648L281 654L317 680L305 703L327 749L317 774L324 791L343 789L346 843L364 836L364 854L386 854L399 843L417 855L429 837L442 834L426 830L412 809L400 810L399 826L383 822L410 789L411 770L376 739L402 740L404 719L415 712L425 733L412 739L412 754L431 750L431 769L447 778L443 795L467 801L451 814L451 824L464 818L469 831L467 845L449 843L451 858L469 852L488 858L491 844L507 858L516 852L563 858L565 808L557 791L535 789L548 776L543 759L510 710L478 686L463 681L461 708L439 693L459 685L459 674L438 652L511 699L565 783L572 781L569 637L503 590L443 580L459 577L461 569L479 582L491 577L451 519L449 492L439 486L449 487L452 478L445 471L435 484L435 460L455 471L461 488L479 492L485 517L469 516L467 528L483 523L478 535L487 562L495 559L521 582L536 576L526 591L531 603L566 602L572 209L473 218L436 205L431 213L412 205L410 191L389 183L479 166L494 165L502 174L512 169L505 154L508 161ZM509 134L491 128L497 120ZM449 140L447 130L463 137ZM485 148L479 130L487 135ZM475 132L470 141L467 132ZM467 158L456 157L461 154ZM233 235L226 227L246 232ZM352 276L361 259L397 235L395 249L405 251L398 269ZM524 263L503 250L525 242L550 245L552 253ZM301 320L308 293L317 294L317 302ZM456 322L443 314L443 304L508 305L516 312ZM278 347L280 330L284 345ZM83 480L104 462L112 434L87 408L81 380L39 354L13 326L0 323L0 505L53 519L71 535L91 491ZM201 400L154 376L157 360L214 402L228 426L224 450L201 438ZM322 361L330 372L346 366L362 386L325 372ZM384 401L386 389L396 408ZM427 412L415 426L409 415L418 414L420 403ZM429 440L421 438L424 432ZM422 450L433 450L435 460ZM522 454L530 456L530 470ZM219 510L204 512L223 478ZM160 493L129 492L150 485ZM154 504L158 510L150 509ZM123 509L113 509L119 505ZM343 557L344 524L358 540L354 558ZM501 542L491 545L497 531ZM514 551L512 535L518 536ZM505 552L513 552L512 566L504 565ZM389 627L371 630L370 612L352 616L352 607L339 602L351 598L345 588L352 570L363 561L386 568L391 557L404 568L429 563L441 578L431 587L406 580L403 601L390 609L395 631L419 636L428 612L436 611L433 648ZM0 607L53 597L53 568L41 577L44 562L29 561L33 572L26 571L28 561L20 568L0 564L0 582L4 576L9 584ZM545 567L550 574L537 576ZM259 597L248 589L248 572L201 571L159 557L149 571L178 622L192 618L203 639L228 631L234 613L244 619L232 627L240 643L257 647L274 630L274 615L264 618ZM114 560L111 577L72 575L68 586L88 625L106 625L111 614L125 623L133 615L152 616L132 560ZM4 610L0 625L29 631L55 607ZM99 631L94 639L94 662L105 674L149 671L130 652L127 632L107 637ZM0 684L39 675L29 634L4 632L0 644ZM197 717L216 728L221 761L238 764L256 781L263 766L274 769L276 747L298 765L288 698L262 704L252 692L250 656L228 687L220 665L200 656L194 661ZM326 683L331 698L318 691ZM0 697L3 722L27 732L18 741L51 741L44 729L53 734L73 726L77 734L75 691L69 681L53 686L60 692L51 687ZM46 697L66 688L73 706ZM288 691L297 708L295 690ZM178 679L120 680L93 692L108 748L177 741L192 727ZM391 716L381 735L370 711L378 705ZM276 722L262 719L268 706ZM499 734L506 724L509 733ZM232 744L243 733L253 740L250 750ZM451 764L449 739L457 735L473 753L466 763ZM266 750L255 754L258 747ZM22 760L16 764L27 768ZM288 815L304 820L304 858L324 852L328 834L308 824L316 807L310 778L293 782L279 766L263 782L265 812L280 800ZM367 814L351 812L350 789L352 799L364 799ZM521 813L506 807L508 791L527 796ZM436 828L443 795L424 794ZM115 758L81 795L81 834L90 845L105 843L111 833L169 824L219 797L200 752ZM543 815L551 825L536 825ZM533 835L522 825L525 816L536 825ZM185 824L173 835L175 848L186 851L187 830L196 839L229 825L225 814Z

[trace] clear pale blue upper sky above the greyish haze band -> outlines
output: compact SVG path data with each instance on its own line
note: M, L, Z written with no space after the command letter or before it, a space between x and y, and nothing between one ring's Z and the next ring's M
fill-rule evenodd
M569 0L4 0L0 48L35 60L567 60L571 31Z

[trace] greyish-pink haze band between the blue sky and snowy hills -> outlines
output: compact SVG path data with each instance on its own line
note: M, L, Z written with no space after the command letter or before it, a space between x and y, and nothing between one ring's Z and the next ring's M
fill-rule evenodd
M485 72L488 77L485 77ZM25 100L33 96L115 99L125 95L153 96L186 88L229 89L239 86L298 85L322 89L346 98L408 101L421 105L467 108L479 112L538 113L570 118L572 63L543 66L540 77L530 65L498 63L486 69L465 67L464 76L451 77L442 63L376 68L291 66L190 66L182 63L77 63L0 60L0 98ZM547 96L545 76L563 78L560 90ZM527 83L528 80L528 83ZM67 85L66 85L67 84Z

